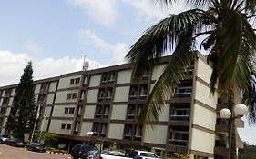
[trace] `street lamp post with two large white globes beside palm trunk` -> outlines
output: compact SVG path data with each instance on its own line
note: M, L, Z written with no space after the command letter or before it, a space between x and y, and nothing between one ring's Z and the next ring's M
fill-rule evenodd
M236 118L240 118L248 113L248 108L245 104L236 104L230 111L228 108L223 108L220 110L220 118L229 120L229 154L228 159L230 159L231 154L231 143L232 143L232 133L233 133L233 123Z

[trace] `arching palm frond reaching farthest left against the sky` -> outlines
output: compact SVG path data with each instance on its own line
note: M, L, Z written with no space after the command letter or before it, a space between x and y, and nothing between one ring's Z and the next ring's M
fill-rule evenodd
M153 25L132 45L126 58L133 68L133 76L142 75L147 67L156 65L158 57L175 49L181 32L193 25L193 32L202 30L200 22L203 11L199 9L182 12L161 20Z

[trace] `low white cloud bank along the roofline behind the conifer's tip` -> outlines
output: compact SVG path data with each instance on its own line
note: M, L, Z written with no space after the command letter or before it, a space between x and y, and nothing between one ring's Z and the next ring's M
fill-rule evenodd
M29 61L32 61L34 80L81 71L83 65L83 58L34 59L26 53L15 54L10 51L0 50L0 67L5 68L0 69L0 85L18 84L23 74L23 69ZM90 59L87 59L87 61L91 64L89 69L104 66Z

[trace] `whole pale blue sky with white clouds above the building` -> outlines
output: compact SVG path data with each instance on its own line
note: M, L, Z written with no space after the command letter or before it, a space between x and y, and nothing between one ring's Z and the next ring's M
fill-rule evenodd
M125 55L143 32L179 3L163 8L152 0L8 0L0 1L0 86L17 84L27 62L34 80L126 63ZM256 144L256 127L240 131Z

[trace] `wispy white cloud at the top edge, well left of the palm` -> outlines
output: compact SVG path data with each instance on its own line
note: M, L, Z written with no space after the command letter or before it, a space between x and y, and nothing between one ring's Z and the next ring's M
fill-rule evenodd
M112 25L118 16L116 0L69 0L69 2L82 8L101 25Z

